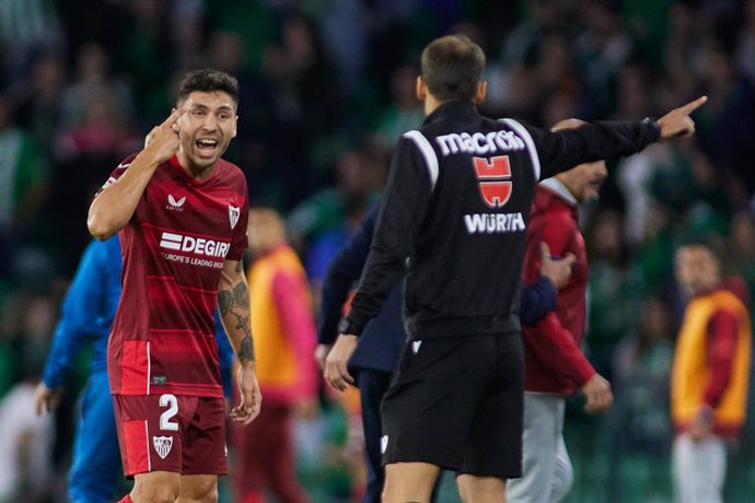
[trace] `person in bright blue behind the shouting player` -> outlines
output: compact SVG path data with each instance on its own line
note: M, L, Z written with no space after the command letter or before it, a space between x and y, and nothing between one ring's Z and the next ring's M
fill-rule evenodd
M113 399L107 382L107 338L120 299L120 242L92 241L79 262L62 304L53 348L36 390L36 412L50 412L60 401L66 374L86 344L92 346L91 376L80 397L68 495L77 503L113 501L120 454ZM218 348L225 396L230 396L232 351L218 321Z

